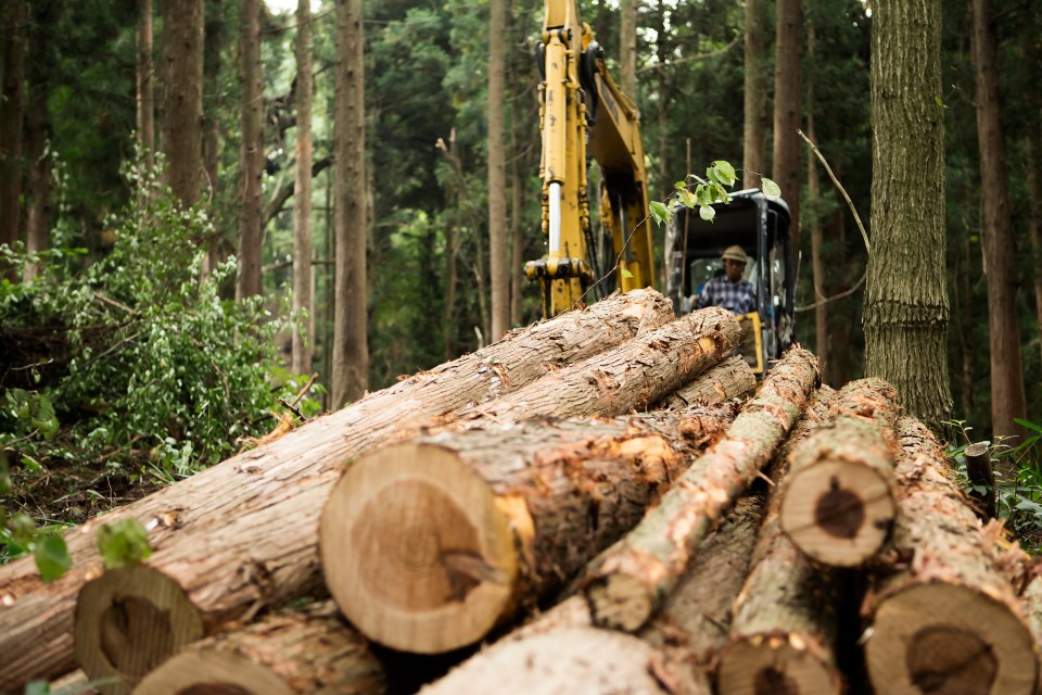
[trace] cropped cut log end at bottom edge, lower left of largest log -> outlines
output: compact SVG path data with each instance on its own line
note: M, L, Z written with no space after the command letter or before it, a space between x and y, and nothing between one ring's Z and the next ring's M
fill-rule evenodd
M228 652L179 654L145 677L135 695L294 695L271 669Z

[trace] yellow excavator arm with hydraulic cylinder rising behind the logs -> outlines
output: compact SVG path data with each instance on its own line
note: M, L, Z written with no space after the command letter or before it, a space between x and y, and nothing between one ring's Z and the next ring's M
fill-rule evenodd
M595 285L623 292L655 285L644 146L636 104L608 74L603 50L575 0L545 0L537 60L546 255L524 266L557 316ZM587 153L600 165L600 227L590 225ZM618 260L618 265L617 265ZM603 280L601 282L601 280Z

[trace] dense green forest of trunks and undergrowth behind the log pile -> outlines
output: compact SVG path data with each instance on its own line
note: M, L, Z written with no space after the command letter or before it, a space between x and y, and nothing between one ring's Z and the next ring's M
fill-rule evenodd
M992 73L975 64L975 8ZM589 1L582 16L639 106L652 199L749 162L744 125L760 128L752 161L798 208L797 339L826 382L863 376L865 243L808 148L776 173L774 130L795 103L875 238L872 4ZM0 442L26 516L79 520L227 457L296 394L293 417L340 407L539 318L521 267L544 253L542 17L534 0L5 0ZM986 269L1001 273L1026 394L1003 417L1037 433L1042 11L944 3L938 30L951 311L946 354L926 357L948 365L960 437L992 437ZM1005 149L984 157L982 79ZM1012 260L997 270L994 200L1006 224L987 233ZM1042 519L1039 500L1014 502Z

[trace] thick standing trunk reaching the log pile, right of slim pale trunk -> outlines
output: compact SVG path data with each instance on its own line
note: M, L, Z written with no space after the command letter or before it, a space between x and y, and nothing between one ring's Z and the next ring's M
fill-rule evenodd
M366 122L361 0L336 0L336 291L332 407L368 386Z

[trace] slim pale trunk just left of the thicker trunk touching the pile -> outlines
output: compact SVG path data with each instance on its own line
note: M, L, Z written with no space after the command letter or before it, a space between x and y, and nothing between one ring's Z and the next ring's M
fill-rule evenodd
M312 314L312 2L296 4L296 190L293 192L293 311ZM293 371L312 372L310 320L293 331Z

